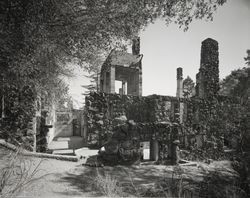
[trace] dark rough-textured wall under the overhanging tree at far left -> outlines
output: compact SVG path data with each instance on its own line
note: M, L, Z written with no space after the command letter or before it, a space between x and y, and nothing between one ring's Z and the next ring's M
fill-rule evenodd
M32 150L34 131L32 118L35 116L35 94L29 86L19 90L10 85L4 93L5 117L0 122L0 138Z

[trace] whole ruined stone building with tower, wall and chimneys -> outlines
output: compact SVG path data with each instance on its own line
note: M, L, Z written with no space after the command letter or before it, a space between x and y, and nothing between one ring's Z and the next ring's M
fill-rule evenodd
M152 142L152 159L158 159L158 150L171 147L176 138L182 144L194 137L190 131L200 130L195 119L196 105L200 100L216 95L219 89L218 42L206 39L201 46L200 69L197 74L196 93L183 96L183 70L177 68L176 96L142 96L142 55L140 40L134 39L133 53L112 50L101 69L101 92L86 97L86 121L89 144L102 145L112 135L114 120L121 116L138 123L141 141ZM115 80L122 81L119 94L115 94ZM194 120L197 122L195 123ZM181 127L176 127L176 126ZM199 145L204 134L195 136Z

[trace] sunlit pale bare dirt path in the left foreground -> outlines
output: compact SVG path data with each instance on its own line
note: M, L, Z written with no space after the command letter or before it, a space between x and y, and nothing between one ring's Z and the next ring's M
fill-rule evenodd
M33 159L38 163L39 159ZM45 177L32 183L24 189L20 196L24 197L90 197L91 193L81 190L83 187L79 172L75 169L79 165L76 162L65 162L59 160L43 160L39 169L40 175ZM75 183L68 179L69 175L77 178ZM38 175L37 175L38 176ZM76 185L77 184L77 185Z

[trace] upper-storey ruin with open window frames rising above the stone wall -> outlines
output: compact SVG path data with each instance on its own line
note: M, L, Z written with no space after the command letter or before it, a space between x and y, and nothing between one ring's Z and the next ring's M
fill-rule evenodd
M112 50L101 68L100 89L104 93L115 93L115 81L122 82L119 93L142 95L142 55L140 38L133 40L132 54Z

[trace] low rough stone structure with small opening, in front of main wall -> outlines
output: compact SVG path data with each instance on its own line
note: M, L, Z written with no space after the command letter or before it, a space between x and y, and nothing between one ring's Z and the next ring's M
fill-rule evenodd
M166 160L167 157L171 157L171 154L166 151L166 146L171 147L172 141L179 132L178 126L169 123L134 123L131 121L118 125L113 131L111 139L104 144L105 151L99 153L104 165L138 163L143 155L140 147L142 141L151 142L151 160Z

